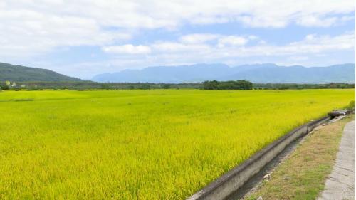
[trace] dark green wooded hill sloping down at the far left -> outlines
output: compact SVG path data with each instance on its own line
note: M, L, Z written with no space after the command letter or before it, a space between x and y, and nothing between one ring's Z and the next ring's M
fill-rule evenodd
M0 81L82 81L52 70L0 63Z

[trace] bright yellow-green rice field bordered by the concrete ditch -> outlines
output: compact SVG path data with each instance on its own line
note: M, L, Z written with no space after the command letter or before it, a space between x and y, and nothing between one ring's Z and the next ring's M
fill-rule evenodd
M185 199L355 90L0 92L0 199Z

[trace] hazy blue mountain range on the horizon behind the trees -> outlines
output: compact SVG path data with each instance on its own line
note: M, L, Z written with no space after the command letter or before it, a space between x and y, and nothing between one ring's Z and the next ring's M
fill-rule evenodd
M253 83L355 83L355 64L306 68L273 63L239 65L196 64L158 66L95 75L97 82L194 83L204 80L249 80Z

